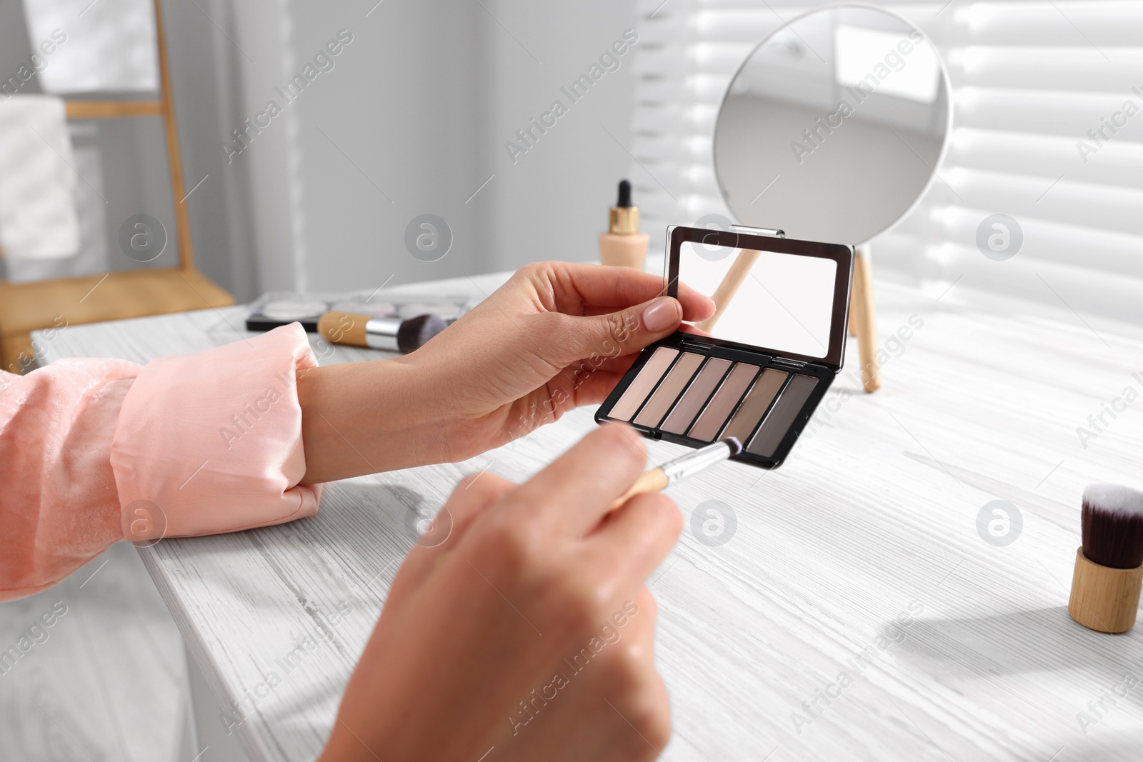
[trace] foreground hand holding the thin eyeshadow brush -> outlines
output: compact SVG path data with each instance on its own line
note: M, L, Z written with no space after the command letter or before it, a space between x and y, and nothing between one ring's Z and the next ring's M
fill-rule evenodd
M325 762L654 760L670 714L645 586L682 519L613 513L640 440L589 434L527 483L461 482L409 553L342 699ZM487 754L487 756L485 756Z

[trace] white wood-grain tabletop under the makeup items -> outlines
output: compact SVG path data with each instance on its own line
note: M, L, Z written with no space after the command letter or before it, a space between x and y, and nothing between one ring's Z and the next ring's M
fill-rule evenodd
M501 279L443 288L479 297ZM1143 336L965 284L942 295L946 286L878 282L892 355L884 388L860 391L850 346L781 470L727 464L672 488L687 529L650 580L674 723L664 759L1143 754L1143 633L1089 632L1065 609L1084 487L1143 487L1143 401L1109 416L1086 448L1077 434L1125 387L1143 392ZM888 342L911 315L924 327ZM241 326L234 307L69 328L43 360L145 362L235 340ZM338 348L326 362L367 356L383 355ZM141 550L229 712L219 728L232 725L251 760L314 759L410 526L465 473L527 479L591 430L591 416L467 463L331 484L313 519ZM649 450L662 460L681 448ZM1004 546L977 530L998 499L1022 516ZM724 528L736 523L718 545L702 526L712 506L733 513ZM1116 696L1126 675L1141 683Z

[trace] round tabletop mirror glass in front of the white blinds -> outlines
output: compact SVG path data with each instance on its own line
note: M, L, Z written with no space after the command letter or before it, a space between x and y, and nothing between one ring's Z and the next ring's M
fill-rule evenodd
M928 38L865 6L800 16L727 89L714 173L744 225L858 244L932 182L950 130L948 74Z

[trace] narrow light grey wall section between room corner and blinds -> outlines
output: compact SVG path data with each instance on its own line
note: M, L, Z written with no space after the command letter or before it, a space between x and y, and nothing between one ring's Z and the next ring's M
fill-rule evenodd
M632 163L628 150L634 50L617 57L620 67L604 74L577 103L572 104L560 88L588 72L624 30L636 26L634 2L488 5L541 61L537 64L504 30L485 21L497 82L480 147L485 176L496 174L483 191L493 191L496 204L490 262L514 267L535 259L594 258L598 235L607 227L607 209ZM513 163L504 143L530 118L539 119L555 99L568 105L568 113Z

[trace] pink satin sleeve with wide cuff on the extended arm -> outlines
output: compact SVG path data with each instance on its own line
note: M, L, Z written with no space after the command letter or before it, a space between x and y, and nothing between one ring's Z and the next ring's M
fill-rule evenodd
M145 367L61 360L0 374L0 600L114 542L264 527L318 512L305 474L298 324Z

